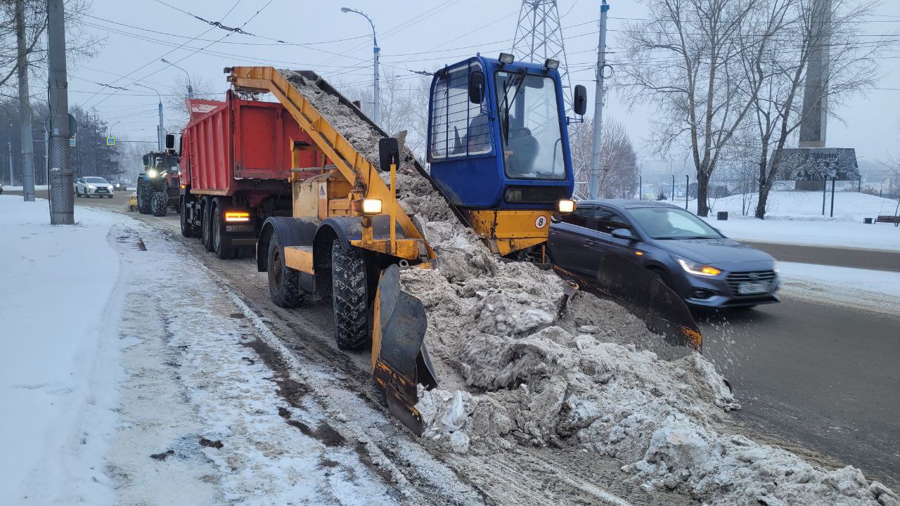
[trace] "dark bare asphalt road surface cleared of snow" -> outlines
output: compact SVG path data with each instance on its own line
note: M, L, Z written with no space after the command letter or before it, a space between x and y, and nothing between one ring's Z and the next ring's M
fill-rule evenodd
M121 210L128 194L76 203ZM816 263L824 258L826 265L896 267L890 255L783 246L762 249L785 261L804 261L788 258L798 255L819 258ZM782 299L752 311L698 316L704 354L743 402L734 419L797 445L791 449L800 453L813 450L810 458L829 456L825 463L856 465L870 479L900 488L900 316L793 298L789 286Z

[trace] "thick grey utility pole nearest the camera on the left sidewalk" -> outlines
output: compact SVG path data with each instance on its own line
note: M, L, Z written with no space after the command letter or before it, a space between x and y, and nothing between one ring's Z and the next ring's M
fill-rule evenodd
M66 71L66 13L64 0L47 0L49 80L50 224L75 224L75 195L69 159L68 77Z

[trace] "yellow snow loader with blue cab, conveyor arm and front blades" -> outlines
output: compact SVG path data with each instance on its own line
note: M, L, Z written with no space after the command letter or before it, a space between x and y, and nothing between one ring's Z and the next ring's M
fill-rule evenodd
M429 95L430 171L415 159L401 160L398 140L315 72L226 68L234 90L274 95L308 134L311 143L288 143L285 158L298 161L297 151L317 155L291 167L289 215L267 217L258 232L257 269L267 273L271 299L283 307L330 303L338 348L361 348L371 339L374 381L392 413L417 434L423 430L417 385L435 387L437 377L423 342L422 303L401 290L399 269L433 267L439 258L398 201L398 167L411 163L491 252L546 263L551 217L575 209L569 119L555 66L552 59L542 65L501 54L439 70ZM583 114L583 86L573 90L573 103ZM317 104L340 104L352 116L329 121ZM374 137L360 140L365 132ZM610 267L618 276L607 285L558 272L573 289L622 290L626 307L651 315L648 326L655 318L674 339L699 346L696 323L686 309L665 307L680 301L655 276L634 262ZM641 272L632 277L629 269ZM629 279L644 285L634 288Z

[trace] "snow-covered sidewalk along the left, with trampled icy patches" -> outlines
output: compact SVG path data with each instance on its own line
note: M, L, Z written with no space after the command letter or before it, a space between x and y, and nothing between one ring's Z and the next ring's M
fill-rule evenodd
M159 230L85 208L50 227L20 197L0 212L0 504L399 501L262 321Z

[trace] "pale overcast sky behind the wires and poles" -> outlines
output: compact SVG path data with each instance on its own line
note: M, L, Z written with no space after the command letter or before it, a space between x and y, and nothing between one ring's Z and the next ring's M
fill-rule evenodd
M246 32L314 44L301 47L238 33L229 35L157 0L94 0L91 17L85 18L85 29L105 37L106 44L96 58L70 68L69 101L95 107L108 123L118 122L114 133L132 140L155 140L157 124L156 93L133 83L138 80L169 95L174 93L173 80L184 77L181 70L166 66L160 58L176 62L192 77L206 79L221 92L228 88L222 68L236 65L309 68L326 78L369 82L371 29L362 16L341 13L340 7L348 6L373 19L382 48L383 70L414 78L408 69L433 70L476 51L493 56L500 50L509 50L521 5L518 0L164 1L227 26L240 26L256 14L244 26ZM633 0L610 0L610 5L608 63L615 68L617 59L624 58L616 52L620 50L617 31L624 27L627 18L645 17L646 12L643 5ZM560 0L559 11L572 86L588 86L590 112L594 94L590 65L597 59L599 1ZM876 14L878 17L873 19L880 23L860 25L860 29L877 34L900 28L900 1L885 1ZM829 147L856 148L860 161L883 159L889 150L896 152L896 140L900 137L900 46L893 47L896 49L884 55L887 58L879 60L885 77L878 85L893 89L869 91L843 106L839 114L845 124L831 121L828 125ZM110 95L111 89L97 83L128 90ZM615 92L608 95L606 103L605 118L625 123L641 158L650 158L644 140L649 137L648 118L653 108L648 104L628 111Z

